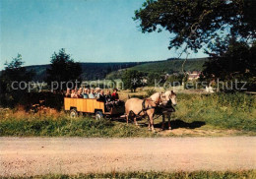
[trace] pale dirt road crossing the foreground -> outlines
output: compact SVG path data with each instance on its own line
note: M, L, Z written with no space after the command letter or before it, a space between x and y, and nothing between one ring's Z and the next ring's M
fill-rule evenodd
M0 175L256 169L256 137L0 138Z

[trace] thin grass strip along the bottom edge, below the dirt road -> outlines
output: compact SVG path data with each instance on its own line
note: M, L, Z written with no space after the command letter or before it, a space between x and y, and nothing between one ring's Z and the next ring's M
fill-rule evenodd
M193 171L193 172L111 172L111 173L90 173L90 174L77 174L77 175L40 175L32 176L30 178L53 178L53 179L66 179L66 178L175 178L175 179L245 179L255 178L255 170L241 170L241 171ZM9 177L11 178L11 177ZM25 178L25 177L15 177ZM26 177L28 178L28 177Z

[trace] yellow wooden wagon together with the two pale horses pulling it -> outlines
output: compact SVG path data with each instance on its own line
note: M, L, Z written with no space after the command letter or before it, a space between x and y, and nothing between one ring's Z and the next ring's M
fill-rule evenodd
M102 118L123 118L128 120L133 118L137 125L136 119L149 117L149 129L154 131L154 115L162 115L162 128L164 128L165 116L168 117L168 129L170 129L170 114L175 111L172 105L176 104L176 94L171 90L164 93L156 92L145 99L130 98L124 102L113 101L109 108L103 101L96 98L64 98L64 108L70 111L71 117L77 117L79 113L95 114L96 119Z

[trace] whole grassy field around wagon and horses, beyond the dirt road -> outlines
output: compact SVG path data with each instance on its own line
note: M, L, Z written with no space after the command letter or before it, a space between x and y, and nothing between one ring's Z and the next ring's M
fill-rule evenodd
M138 94L141 97L145 96L145 92L139 92ZM255 98L254 95L243 93L208 95L178 93L178 104L175 106L176 112L171 116L171 127L172 129L189 129L192 132L197 130L221 130L219 133L223 133L226 130L236 130L238 135L256 135ZM125 120L96 121L92 117L85 116L71 119L64 112L28 114L23 111L10 110L2 111L0 116L0 136L106 138L162 136L158 130L158 133L155 134L148 131L147 120L139 121L141 127L138 128L132 124L127 125ZM160 129L160 122L161 117L155 120L157 129ZM171 131L163 136L176 135L173 130L173 132Z

